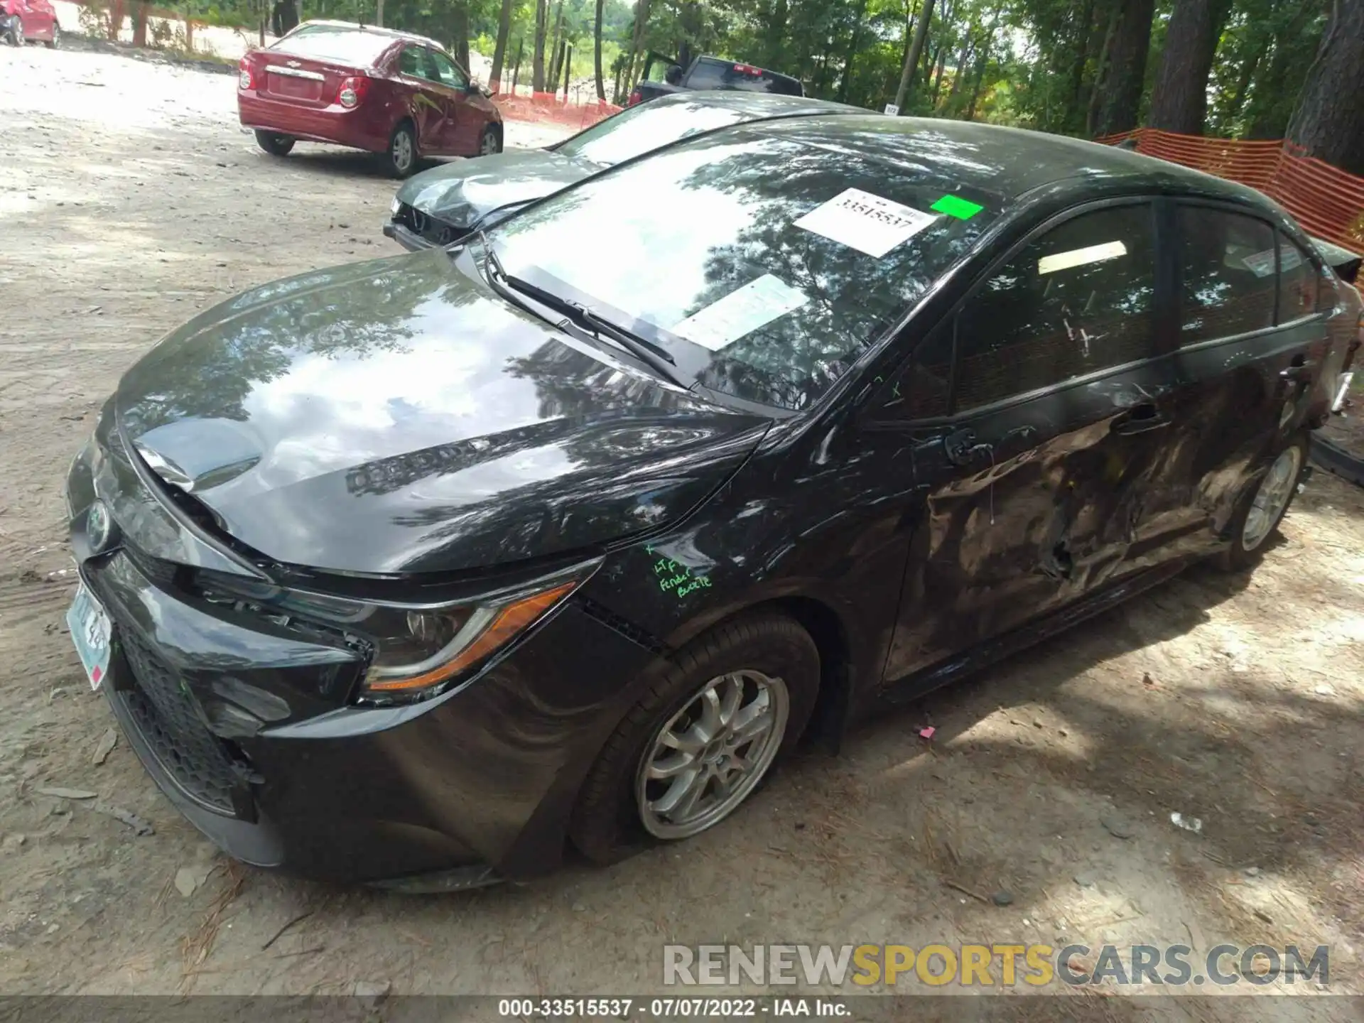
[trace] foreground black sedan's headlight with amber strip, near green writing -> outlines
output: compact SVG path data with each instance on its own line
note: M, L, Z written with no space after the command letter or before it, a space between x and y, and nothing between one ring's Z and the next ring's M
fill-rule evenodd
M203 595L246 604L277 622L297 615L367 640L364 692L416 694L449 682L524 633L572 593L595 565L458 604L376 604L289 591L201 569Z

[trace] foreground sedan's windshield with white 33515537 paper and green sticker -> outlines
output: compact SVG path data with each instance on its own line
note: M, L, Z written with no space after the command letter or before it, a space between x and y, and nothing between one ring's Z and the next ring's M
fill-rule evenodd
M490 237L509 271L536 267L604 303L603 315L610 306L687 338L708 356L701 385L805 408L1003 203L928 170L934 154L963 162L930 131L914 136L908 165L794 134L696 139L588 179Z

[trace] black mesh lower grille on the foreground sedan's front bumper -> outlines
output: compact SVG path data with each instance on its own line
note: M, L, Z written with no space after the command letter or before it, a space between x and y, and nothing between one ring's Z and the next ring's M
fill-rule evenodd
M117 633L134 685L115 694L123 700L161 767L180 788L218 813L237 816L237 772L221 741L199 719L194 697L157 652L131 630Z

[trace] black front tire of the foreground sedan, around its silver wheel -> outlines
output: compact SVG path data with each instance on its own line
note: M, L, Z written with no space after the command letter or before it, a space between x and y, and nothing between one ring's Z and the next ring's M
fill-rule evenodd
M705 694L712 686L726 694L741 693L731 720L742 720L749 712L757 724L769 715L768 728L745 741L742 735L726 738L723 727L712 727L711 735L717 738L694 753L660 745L664 730L690 742L694 738L690 732L704 723L707 704L715 708L715 720L720 720L728 701L708 701ZM799 741L818 687L818 649L810 634L784 615L738 618L697 637L652 670L638 702L597 754L569 825L573 844L593 863L607 865L649 844L692 837L719 824L771 777L772 767ZM760 709L764 701L765 712ZM667 758L687 757L700 775L692 768L662 782L645 775L651 765L662 762L671 769ZM727 780L727 795L722 794L719 777L708 771L734 772ZM702 795L693 816L683 817L683 806L675 820L656 812L653 807L667 802L674 786L685 787L687 775L701 779ZM685 805L686 799L677 802Z

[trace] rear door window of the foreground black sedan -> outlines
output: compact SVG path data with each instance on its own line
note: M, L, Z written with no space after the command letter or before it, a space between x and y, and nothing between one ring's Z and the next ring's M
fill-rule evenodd
M1254 217L1178 207L1180 344L1274 326L1274 229Z

